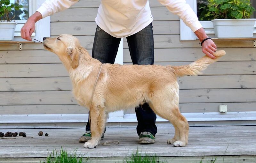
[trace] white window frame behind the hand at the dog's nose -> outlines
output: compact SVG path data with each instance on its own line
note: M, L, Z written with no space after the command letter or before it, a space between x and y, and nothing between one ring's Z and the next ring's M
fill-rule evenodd
M36 9L38 9L42 3L44 3L45 0L28 0L28 17L30 17L33 13L36 12ZM20 37L20 29L22 26L26 23L27 20L15 20L17 24L15 28L14 33L14 41L25 41ZM39 20L36 22L36 30L32 34L33 39L42 41L43 37L50 37L51 35L51 28L50 28L50 16L46 17L42 20Z

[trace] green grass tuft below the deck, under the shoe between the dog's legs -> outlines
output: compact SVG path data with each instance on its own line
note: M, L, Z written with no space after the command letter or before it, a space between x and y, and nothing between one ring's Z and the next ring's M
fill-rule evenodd
M132 156L124 160L126 163L164 163L159 161L159 158L155 155L149 155L145 153L143 156L136 150L136 153L132 153Z

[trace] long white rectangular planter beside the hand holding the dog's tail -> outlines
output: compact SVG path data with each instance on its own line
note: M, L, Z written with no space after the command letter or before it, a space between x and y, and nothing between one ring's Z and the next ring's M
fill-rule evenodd
M217 38L252 38L256 19L214 19L215 37Z

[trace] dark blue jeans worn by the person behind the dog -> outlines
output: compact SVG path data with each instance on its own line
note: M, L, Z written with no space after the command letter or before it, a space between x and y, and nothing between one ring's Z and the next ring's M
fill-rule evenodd
M154 64L154 39L153 26L150 23L140 32L126 37L133 64ZM99 26L96 28L92 47L92 57L101 63L114 64L121 38L116 38L103 31ZM135 108L138 126L137 133L147 131L156 135L156 114L147 103ZM90 130L89 120L86 131Z

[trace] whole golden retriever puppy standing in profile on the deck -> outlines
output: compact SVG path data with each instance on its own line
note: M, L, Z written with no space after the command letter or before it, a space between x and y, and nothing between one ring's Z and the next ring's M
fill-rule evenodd
M68 70L73 93L78 103L90 109L92 139L84 148L95 148L100 143L106 123L106 112L137 107L147 102L159 116L169 120L175 134L168 144L185 146L189 125L179 110L177 77L199 75L206 67L225 55L214 53L217 59L204 56L186 66L103 64L98 83L91 97L101 64L92 58L78 39L69 34L44 38L44 48L57 54Z

